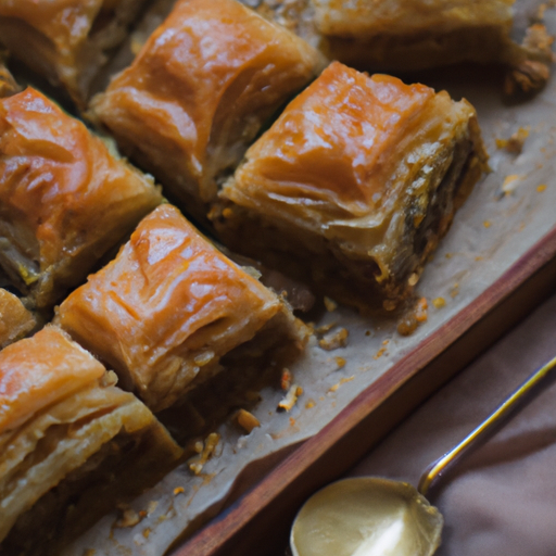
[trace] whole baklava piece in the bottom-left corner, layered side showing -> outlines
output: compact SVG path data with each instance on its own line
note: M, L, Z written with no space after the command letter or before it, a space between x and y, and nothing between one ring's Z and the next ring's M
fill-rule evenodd
M0 352L0 553L54 556L181 450L152 413L48 326Z

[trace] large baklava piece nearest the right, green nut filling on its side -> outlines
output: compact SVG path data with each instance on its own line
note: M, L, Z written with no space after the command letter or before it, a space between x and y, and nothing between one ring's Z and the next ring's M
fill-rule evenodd
M212 217L232 250L393 308L485 165L467 101L334 62L248 151Z

